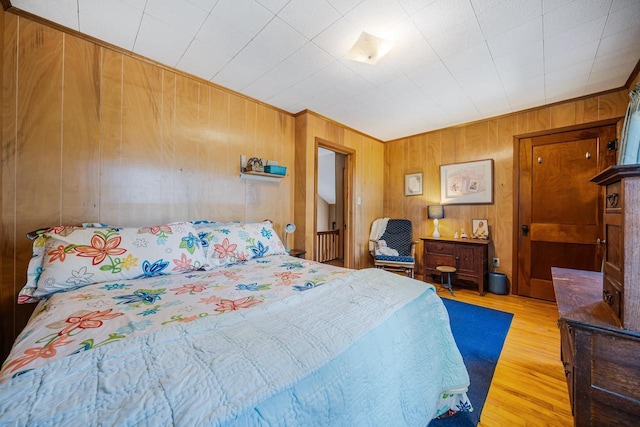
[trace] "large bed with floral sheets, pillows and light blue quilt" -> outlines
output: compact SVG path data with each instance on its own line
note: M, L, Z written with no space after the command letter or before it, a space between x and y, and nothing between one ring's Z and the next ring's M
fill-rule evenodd
M15 425L426 425L470 411L433 286L290 257L269 222L55 227L0 371Z

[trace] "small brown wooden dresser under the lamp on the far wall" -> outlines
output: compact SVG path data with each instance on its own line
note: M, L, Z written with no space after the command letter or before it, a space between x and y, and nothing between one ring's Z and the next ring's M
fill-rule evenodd
M491 240L448 239L445 237L421 237L423 247L423 279L439 276L436 267L455 267L453 280L475 283L480 295L484 295L489 275L489 244Z

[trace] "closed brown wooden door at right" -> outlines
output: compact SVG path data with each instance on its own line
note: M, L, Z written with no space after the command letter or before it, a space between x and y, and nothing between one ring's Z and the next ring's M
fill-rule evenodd
M589 182L615 163L615 125L519 143L518 294L554 301L551 267L599 271L603 193Z

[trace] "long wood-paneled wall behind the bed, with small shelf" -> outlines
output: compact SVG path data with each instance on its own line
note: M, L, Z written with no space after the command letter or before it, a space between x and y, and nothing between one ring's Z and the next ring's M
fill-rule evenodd
M293 219L295 117L4 13L3 355L33 305L17 306L25 233L51 225ZM243 180L240 155L288 167Z

